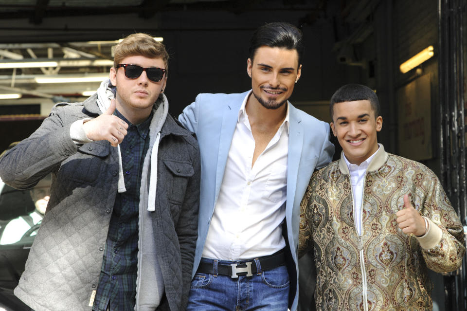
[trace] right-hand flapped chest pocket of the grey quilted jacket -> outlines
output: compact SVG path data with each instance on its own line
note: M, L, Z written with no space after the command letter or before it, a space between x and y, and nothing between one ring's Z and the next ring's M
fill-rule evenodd
M169 202L180 205L185 197L188 179L195 174L191 162L163 160L170 174L167 174L167 198Z

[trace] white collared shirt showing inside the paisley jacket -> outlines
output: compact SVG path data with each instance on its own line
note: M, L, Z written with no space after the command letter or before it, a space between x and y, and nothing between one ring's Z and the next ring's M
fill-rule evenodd
M379 144L378 144L379 150ZM357 229L357 233L361 236L361 223L363 218L362 207L361 203L363 201L363 190L364 190L364 182L365 182L365 172L370 164L371 160L378 152L375 151L368 159L363 161L360 165L351 164L349 160L343 154L345 163L349 168L350 172L350 183L352 184L352 194L354 195L354 220L355 220L355 228Z

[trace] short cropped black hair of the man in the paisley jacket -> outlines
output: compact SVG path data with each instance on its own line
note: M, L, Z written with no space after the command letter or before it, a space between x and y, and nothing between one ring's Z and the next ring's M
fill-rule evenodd
M329 113L334 114L334 104L343 102L353 102L356 100L367 100L371 104L371 109L375 112L375 118L379 116L379 100L375 91L361 84L347 84L339 88L331 97Z

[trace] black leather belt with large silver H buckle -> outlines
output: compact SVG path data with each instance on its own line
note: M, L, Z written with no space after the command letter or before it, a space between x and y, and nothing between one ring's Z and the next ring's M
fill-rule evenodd
M257 259L259 260L259 264L261 266L260 269L256 267L256 262L254 259L250 261L242 261L240 263L233 263L230 265L218 263L217 274L229 275L232 278L236 278L238 277L238 275L251 276L253 274L256 274L258 271L265 271L286 264L286 256L283 250L269 256L259 257ZM197 272L205 274L215 274L214 263L201 261L199 263Z

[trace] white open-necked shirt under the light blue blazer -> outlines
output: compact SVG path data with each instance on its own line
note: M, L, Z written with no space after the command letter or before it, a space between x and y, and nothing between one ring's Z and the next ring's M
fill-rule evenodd
M250 92L251 93L251 92ZM253 166L255 142L245 105L230 146L224 178L204 245L203 257L238 260L271 255L286 246L287 115Z

